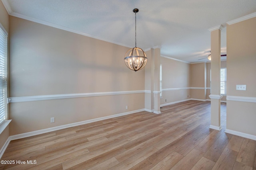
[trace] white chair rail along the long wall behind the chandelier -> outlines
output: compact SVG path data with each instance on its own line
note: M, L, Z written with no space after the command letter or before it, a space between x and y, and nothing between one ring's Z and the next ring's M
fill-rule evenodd
M54 95L42 95L42 96L22 96L22 97L10 97L10 98L8 98L8 101L9 101L9 103L30 102L30 101L38 101L38 100L85 98L85 97L95 97L95 96L111 96L111 95L136 94L136 93L145 93L145 90L120 91L120 92L76 93L76 94L54 94Z

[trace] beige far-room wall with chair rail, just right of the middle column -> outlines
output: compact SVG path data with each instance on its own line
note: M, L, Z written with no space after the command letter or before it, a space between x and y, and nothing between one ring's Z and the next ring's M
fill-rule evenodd
M162 64L162 92L160 104L168 104L186 100L190 96L190 89L168 90L190 87L190 64L161 57ZM166 102L165 102L166 100Z

